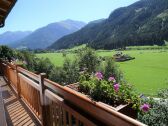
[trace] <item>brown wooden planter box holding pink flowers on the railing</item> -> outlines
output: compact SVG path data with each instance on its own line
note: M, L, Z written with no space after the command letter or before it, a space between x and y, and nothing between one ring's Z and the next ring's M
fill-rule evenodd
M65 87L71 88L71 89L73 89L74 91L77 91L78 93L81 93L81 92L79 92L79 90L78 90L78 84L79 84L79 83L69 84L69 85L66 85ZM81 94L83 94L83 93L81 93ZM83 95L85 95L85 94L83 94ZM85 95L85 96L86 96L87 98L89 98L89 96L87 96L87 95ZM106 103L103 103L103 102L96 102L96 104L102 105L102 106L104 106L104 107L113 109L113 110L118 111L118 112L121 112L122 114L127 115L127 116L129 116L129 117L131 117L131 118L134 118L134 119L137 118L137 113L138 113L138 112L137 112L137 110L134 110L134 109L132 108L132 105L131 105L131 104L124 104L124 105L121 104L121 105L118 105L117 107L110 106L110 105L108 105L108 104L106 104Z

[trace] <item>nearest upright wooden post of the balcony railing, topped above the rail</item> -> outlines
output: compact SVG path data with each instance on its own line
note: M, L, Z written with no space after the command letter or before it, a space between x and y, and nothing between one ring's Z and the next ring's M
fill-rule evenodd
M46 77L45 73L40 73L39 75L39 85L40 85L40 103L41 103L41 121L43 126L47 126L47 111L46 111L46 104L45 104L45 96L44 96L44 78Z

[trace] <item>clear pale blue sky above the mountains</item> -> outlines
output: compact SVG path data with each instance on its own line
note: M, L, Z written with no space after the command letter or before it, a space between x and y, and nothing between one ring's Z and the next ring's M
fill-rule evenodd
M87 23L107 18L114 9L136 1L138 0L18 0L0 33L35 30L66 19Z

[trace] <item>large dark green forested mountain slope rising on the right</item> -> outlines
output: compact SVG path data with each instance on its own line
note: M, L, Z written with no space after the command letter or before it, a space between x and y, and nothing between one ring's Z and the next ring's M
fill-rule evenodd
M88 43L95 49L115 49L163 45L164 40L168 40L168 0L140 0L114 10L105 20L89 23L48 48L62 49Z

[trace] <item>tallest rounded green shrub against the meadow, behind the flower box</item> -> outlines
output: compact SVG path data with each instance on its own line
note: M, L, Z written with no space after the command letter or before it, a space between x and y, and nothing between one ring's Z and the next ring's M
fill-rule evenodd
M91 48L79 53L79 67L81 70L86 70L89 73L95 72L97 65L99 65L98 57Z

